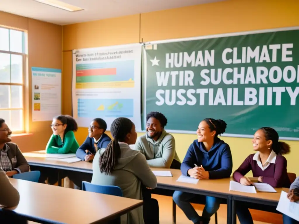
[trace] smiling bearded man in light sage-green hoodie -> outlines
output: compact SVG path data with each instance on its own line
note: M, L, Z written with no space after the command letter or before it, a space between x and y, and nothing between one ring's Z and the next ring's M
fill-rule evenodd
M177 168L181 163L176 154L173 136L164 130L167 118L159 112L147 114L147 134L137 139L135 150L144 154L150 167Z

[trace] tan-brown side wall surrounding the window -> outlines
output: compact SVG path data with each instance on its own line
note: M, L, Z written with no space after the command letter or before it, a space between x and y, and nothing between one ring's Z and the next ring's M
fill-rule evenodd
M0 25L28 32L28 74L25 80L27 134L13 136L22 152L45 149L51 121L32 122L31 67L62 69L62 26L0 11Z

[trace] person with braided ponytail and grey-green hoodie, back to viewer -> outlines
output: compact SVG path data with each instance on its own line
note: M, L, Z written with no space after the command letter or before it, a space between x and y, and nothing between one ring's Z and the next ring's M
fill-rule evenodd
M135 144L135 125L127 118L119 117L111 124L113 140L106 149L99 150L92 163L91 183L115 185L123 191L123 197L142 200L142 185L157 186L157 178L152 173L144 156L129 145ZM143 224L142 207L138 207L121 217L121 223Z

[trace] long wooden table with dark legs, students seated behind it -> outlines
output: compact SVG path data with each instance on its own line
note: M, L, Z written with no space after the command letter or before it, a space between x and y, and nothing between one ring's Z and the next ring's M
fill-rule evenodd
M32 152L34 153L34 152ZM92 163L90 162L76 162L76 163L66 163L48 160L41 157L28 157L24 153L29 165L50 167L62 170L78 171L83 173L92 173ZM152 170L165 170L153 168ZM243 193L238 191L229 191L229 183L232 178L217 179L217 180L200 180L197 184L189 184L176 182L176 180L181 175L180 170L167 169L173 174L173 177L157 177L158 185L157 188L173 190L173 191L183 191L192 194L200 194L211 197L219 197L227 200L227 223L236 223L236 202L245 201L253 202L256 204L264 204L270 206L277 206L280 198L281 191L288 191L287 188L276 188L277 193L266 193L257 192L257 194ZM175 207L173 208L175 211ZM173 220L175 222L175 213Z

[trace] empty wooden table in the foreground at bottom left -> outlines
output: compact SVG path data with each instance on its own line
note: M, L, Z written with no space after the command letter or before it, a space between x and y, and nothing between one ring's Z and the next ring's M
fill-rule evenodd
M20 193L11 210L38 223L105 223L142 205L143 201L62 188L10 178Z

